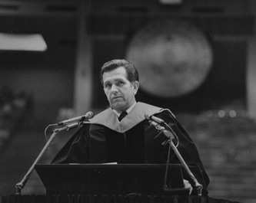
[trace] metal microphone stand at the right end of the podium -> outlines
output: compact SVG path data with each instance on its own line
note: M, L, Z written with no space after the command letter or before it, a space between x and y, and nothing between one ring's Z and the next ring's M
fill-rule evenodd
M168 126L168 124L165 123L165 126ZM172 134L174 134L177 137L177 135L171 129L171 127L168 126L168 128L170 129L170 131L168 131L168 132L171 132ZM176 156L178 157L179 161L181 162L181 165L185 168L185 171L188 172L188 175L190 175L192 181L194 182L194 186L195 186L195 188L196 188L196 190L198 192L198 196L201 196L203 186L198 182L197 178L194 177L194 174L188 168L187 163L182 158L180 152L178 152L178 149L175 146L175 144L172 142L172 139L174 139L174 137L173 136L169 136L167 133L165 133L165 131L167 131L167 130L166 129L163 130L163 133L165 134L165 136L168 137L169 149L168 149L168 159L167 159L167 162L166 162L166 169L165 169L164 190L167 191L167 189L168 189L167 186L166 186L166 182L167 182L167 175L168 175L168 165L169 165L169 159L170 159L170 152L171 152L171 149L172 149L175 152Z

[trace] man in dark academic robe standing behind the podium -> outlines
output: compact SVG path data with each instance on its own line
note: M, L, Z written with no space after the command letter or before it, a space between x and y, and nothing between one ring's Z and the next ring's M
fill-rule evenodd
M113 60L101 67L100 74L110 108L98 113L90 124L83 125L52 163L166 163L168 137L164 133L159 134L145 120L148 113L165 120L175 131L178 138L174 142L178 151L188 165L196 165L200 169L203 195L207 195L208 175L185 129L170 110L136 102L139 88L136 68L128 61ZM169 161L180 164L175 152L171 152ZM185 181L185 187L191 188L191 185Z

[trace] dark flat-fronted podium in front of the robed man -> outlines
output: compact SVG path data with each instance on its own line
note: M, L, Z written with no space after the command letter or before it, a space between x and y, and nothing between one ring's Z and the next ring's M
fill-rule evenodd
M181 165L35 165L46 195L188 195ZM166 189L164 183L166 179Z

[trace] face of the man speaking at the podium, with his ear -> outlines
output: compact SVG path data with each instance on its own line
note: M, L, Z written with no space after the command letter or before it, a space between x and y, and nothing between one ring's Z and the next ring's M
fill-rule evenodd
M113 110L125 111L135 103L135 94L139 84L138 81L131 83L127 79L125 67L105 72L102 80L105 95Z

